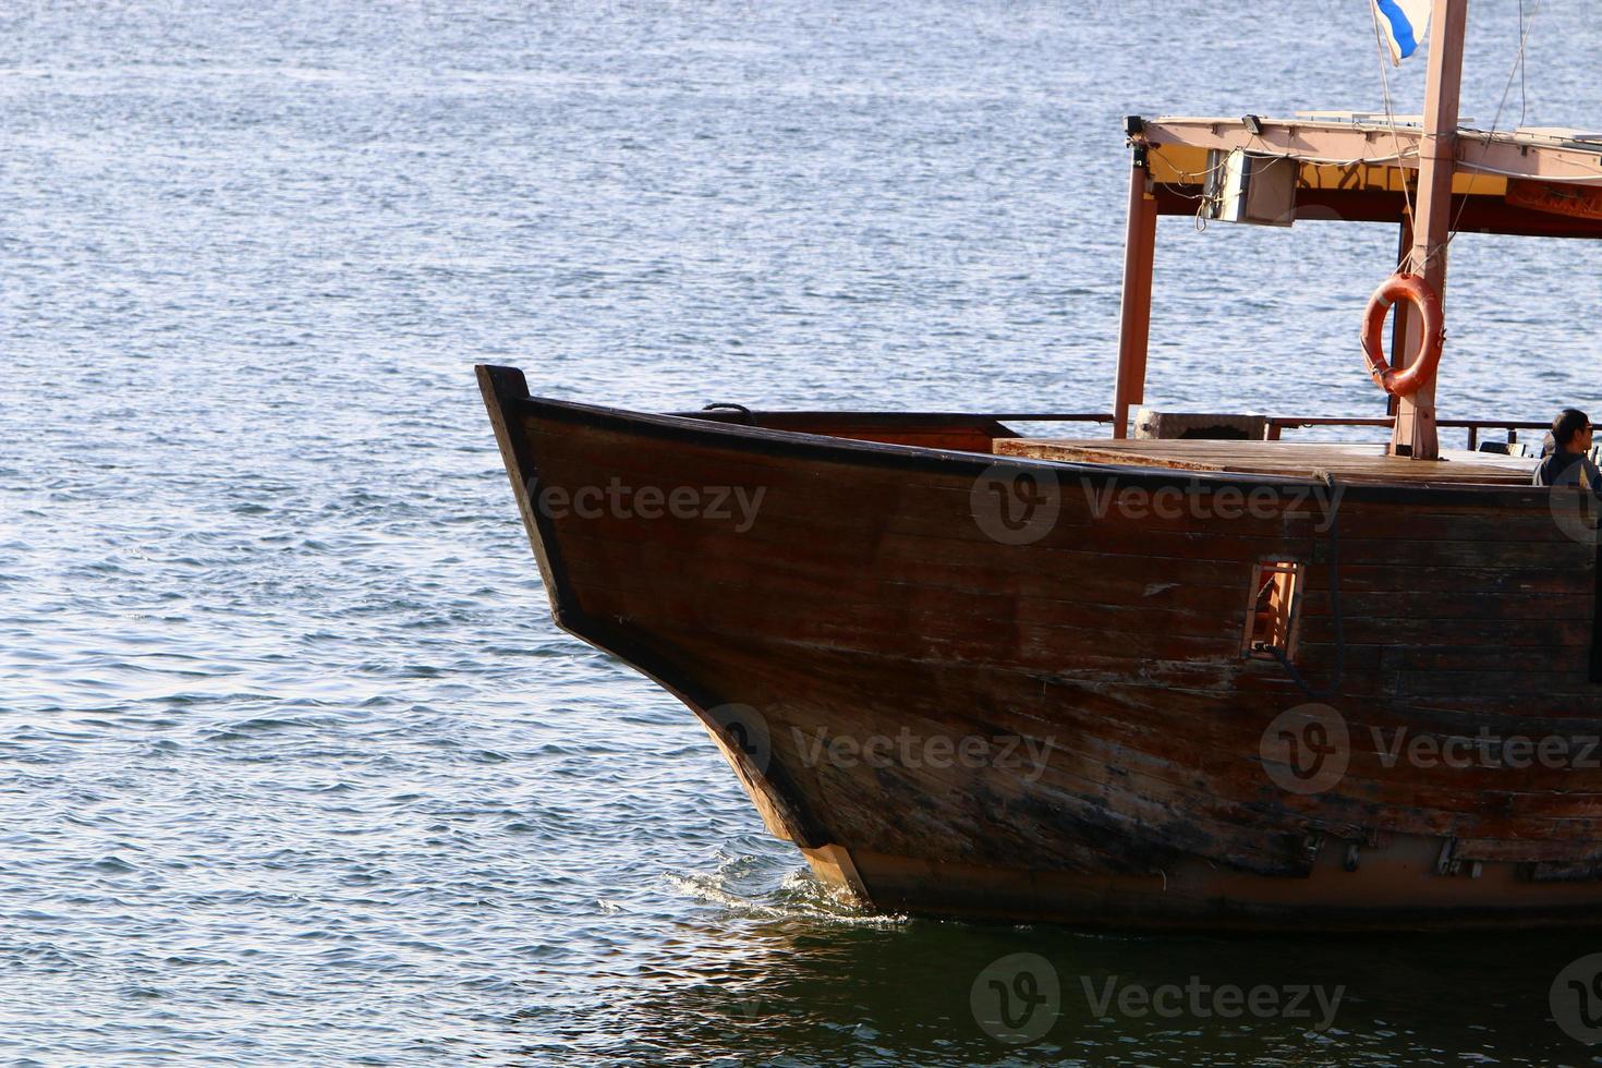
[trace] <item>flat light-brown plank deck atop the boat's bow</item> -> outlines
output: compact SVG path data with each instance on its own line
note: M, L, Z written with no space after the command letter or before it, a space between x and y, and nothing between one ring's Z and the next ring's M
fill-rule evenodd
M1184 471L1240 471L1346 482L1530 485L1540 463L1528 456L1440 450L1439 461L1387 456L1381 442L1256 442L1256 440L1120 440L1072 437L998 437L1001 456L1112 463Z

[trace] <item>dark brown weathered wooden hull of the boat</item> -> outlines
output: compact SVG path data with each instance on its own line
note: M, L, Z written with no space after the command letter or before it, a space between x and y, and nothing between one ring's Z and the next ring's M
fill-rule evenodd
M769 829L871 908L1602 919L1596 548L1546 490L1341 487L1330 522L1330 487L1306 479L1017 461L1061 492L1049 530L1008 543L976 520L998 461L980 453L1006 434L982 420L809 434L533 400L508 368L481 381L557 623L679 697ZM1107 508L1165 487L1254 508ZM1317 793L1264 748L1326 714L1243 652L1264 559L1304 568L1306 685L1338 679L1322 705L1346 767ZM1567 756L1395 756L1487 737Z

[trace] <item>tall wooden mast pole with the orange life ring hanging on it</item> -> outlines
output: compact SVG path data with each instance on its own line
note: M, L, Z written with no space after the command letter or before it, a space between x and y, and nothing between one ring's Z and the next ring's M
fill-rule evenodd
M1463 37L1469 22L1469 0L1435 0L1429 21L1434 40L1429 45L1424 136L1418 146L1418 219L1407 269L1424 275L1429 288L1445 301L1451 176L1458 162L1458 94L1463 88ZM1411 397L1402 397L1391 432L1391 452L1415 460L1440 460L1434 381Z

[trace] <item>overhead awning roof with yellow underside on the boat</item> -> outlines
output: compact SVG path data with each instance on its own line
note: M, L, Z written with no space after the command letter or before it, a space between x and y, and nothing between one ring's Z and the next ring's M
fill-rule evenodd
M1161 215L1197 215L1219 155L1242 149L1294 160L1296 219L1402 223L1416 189L1423 128L1383 115L1134 118ZM1459 231L1602 237L1602 133L1461 128L1453 219ZM1416 195L1415 195L1416 200Z

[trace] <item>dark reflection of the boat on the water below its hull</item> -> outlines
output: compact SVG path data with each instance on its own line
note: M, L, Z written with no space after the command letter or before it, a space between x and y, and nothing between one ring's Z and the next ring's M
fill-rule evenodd
M554 1033L530 1028L527 1063L564 1049L618 1063L1592 1063L1548 1009L1586 950L1565 933L1226 940L723 919L602 980ZM1054 996L1004 969L995 982L1019 954L1049 962ZM1028 996L1049 1014L1028 1022L1038 1041L1006 1041L979 1010L1017 1025Z

